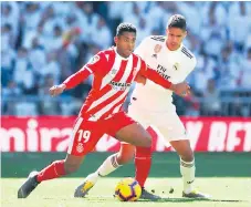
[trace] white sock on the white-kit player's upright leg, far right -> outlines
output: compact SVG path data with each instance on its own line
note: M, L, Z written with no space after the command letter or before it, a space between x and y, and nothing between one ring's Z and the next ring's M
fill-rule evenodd
M180 174L184 179L184 192L189 194L192 190L196 176L195 159L192 162L185 162L180 158Z

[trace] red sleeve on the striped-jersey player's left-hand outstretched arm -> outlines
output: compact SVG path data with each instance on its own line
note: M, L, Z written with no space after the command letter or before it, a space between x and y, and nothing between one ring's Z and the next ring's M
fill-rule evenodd
M90 74L94 74L95 79L95 75L102 71L102 68L104 68L105 64L106 58L102 52L100 52L94 55L80 71L69 76L63 84L66 85L66 89L72 89L85 81Z

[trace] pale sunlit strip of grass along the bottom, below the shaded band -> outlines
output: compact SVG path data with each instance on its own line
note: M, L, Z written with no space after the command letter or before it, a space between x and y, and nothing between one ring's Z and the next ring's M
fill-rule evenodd
M81 178L61 178L41 184L27 198L18 199L17 190L24 178L2 179L2 207L116 207L116 206L192 206L192 207L250 207L251 179L250 178L197 178L196 185L212 195L211 200L194 200L181 197L181 179L179 178L149 178L148 189L163 197L157 203L138 200L122 203L113 197L114 188L119 178L102 178L90 192L86 198L73 198L75 187L83 180ZM174 193L169 194L170 187Z

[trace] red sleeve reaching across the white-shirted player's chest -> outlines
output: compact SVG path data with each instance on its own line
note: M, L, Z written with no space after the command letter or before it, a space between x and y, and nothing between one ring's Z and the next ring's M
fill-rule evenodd
M169 82L168 80L159 75L158 72L151 69L149 65L147 65L144 60L140 60L140 61L142 61L142 66L138 72L138 75L144 76L155 82L156 84L161 85L165 89L170 89L171 82Z

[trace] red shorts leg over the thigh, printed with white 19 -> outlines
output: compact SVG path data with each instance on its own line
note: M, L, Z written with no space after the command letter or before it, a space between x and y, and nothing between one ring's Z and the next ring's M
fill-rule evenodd
M73 127L67 154L83 157L92 152L104 134L103 128L104 126L98 122L90 122L79 117Z

